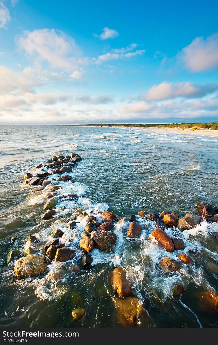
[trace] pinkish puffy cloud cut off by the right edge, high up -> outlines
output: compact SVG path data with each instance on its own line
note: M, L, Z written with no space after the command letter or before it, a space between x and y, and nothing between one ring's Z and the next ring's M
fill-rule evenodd
M192 72L203 72L218 68L218 33L206 37L196 37L183 48L179 57L185 67Z

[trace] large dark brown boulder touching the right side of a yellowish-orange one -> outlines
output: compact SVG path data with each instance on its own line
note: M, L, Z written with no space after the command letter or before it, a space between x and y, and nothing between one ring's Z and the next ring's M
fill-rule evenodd
M110 253L114 250L116 243L116 234L110 231L92 231L91 237L94 241L95 248L102 250L103 252Z

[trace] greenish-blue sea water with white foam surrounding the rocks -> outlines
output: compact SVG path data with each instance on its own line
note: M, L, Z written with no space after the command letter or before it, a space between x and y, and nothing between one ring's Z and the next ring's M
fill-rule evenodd
M63 184L63 193L76 193L78 201L60 200L56 215L43 220L43 193L34 196L25 186L23 174L53 155L77 152L83 159L73 169L75 184ZM141 128L105 128L71 126L0 126L0 257L2 326L27 327L121 327L115 317L113 291L108 274L114 267L125 267L134 282L133 295L141 299L152 327L217 327L217 315L202 312L195 297L199 291L218 293L216 274L208 263L218 262L218 224L201 223L196 229L181 233L167 230L170 236L184 239L185 250L194 265L166 276L157 263L163 257L175 257L147 240L154 223L138 218L143 231L137 240L115 227L114 253L92 252L90 270L77 275L64 268L55 278L58 264L51 264L43 277L17 280L13 266L5 264L11 249L23 250L27 238L37 234L41 247L56 228L63 229L70 220L69 210L82 207L130 216L139 210L160 213L177 212L180 217L196 213L194 203L218 204L218 139ZM61 206L66 210L62 211ZM84 227L78 224L78 230ZM128 228L128 226L127 226ZM15 242L11 237L16 235ZM78 242L73 248L78 250ZM41 252L43 253L43 251ZM79 260L76 257L75 260ZM55 266L56 265L56 266ZM185 291L172 298L176 283ZM85 317L72 323L73 307L84 307Z

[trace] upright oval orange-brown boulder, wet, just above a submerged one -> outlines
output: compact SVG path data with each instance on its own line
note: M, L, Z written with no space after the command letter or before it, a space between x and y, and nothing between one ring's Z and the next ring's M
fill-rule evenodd
M111 273L111 285L120 297L127 297L132 293L133 284L126 277L126 271L117 267Z

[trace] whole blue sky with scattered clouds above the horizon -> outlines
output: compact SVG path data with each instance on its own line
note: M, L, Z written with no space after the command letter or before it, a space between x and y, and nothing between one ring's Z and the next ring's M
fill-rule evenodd
M0 124L218 121L217 1L0 0Z

